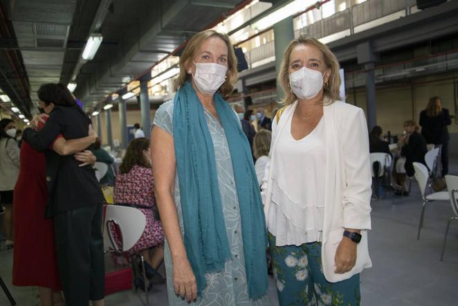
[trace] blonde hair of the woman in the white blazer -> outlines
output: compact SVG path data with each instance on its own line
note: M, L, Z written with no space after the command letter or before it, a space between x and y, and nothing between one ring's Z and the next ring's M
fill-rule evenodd
M341 100L339 96L340 66L336 58L336 55L333 55L331 50L329 50L329 48L326 45L322 44L318 39L301 35L300 37L293 39L288 44L286 51L284 51L283 61L280 66L280 72L278 73L278 82L280 83L280 86L282 87L285 95L282 100L282 103L284 103L284 105L290 105L295 100L297 100L297 96L293 92L291 92L291 87L289 86L288 67L293 48L300 44L309 44L311 46L314 46L315 48L318 48L318 50L322 52L324 57L324 64L326 65L326 68L330 70L328 84L327 86L326 84L324 86L324 97L331 100L329 104L333 103L336 100Z

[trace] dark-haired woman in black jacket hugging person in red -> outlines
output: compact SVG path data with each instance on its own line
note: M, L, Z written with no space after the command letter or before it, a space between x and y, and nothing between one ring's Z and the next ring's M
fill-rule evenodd
M80 167L73 156L49 150L58 134L65 139L88 135L91 120L77 106L63 84L39 88L39 107L50 116L37 132L25 129L23 138L33 149L45 152L48 205L54 218L59 276L67 306L104 305L104 253L102 190L90 165ZM39 117L32 120L37 124Z

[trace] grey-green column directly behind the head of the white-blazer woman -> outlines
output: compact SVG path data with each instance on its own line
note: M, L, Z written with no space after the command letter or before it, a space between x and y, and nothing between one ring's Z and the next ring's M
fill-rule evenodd
M283 60L283 54L286 47L294 39L293 16L278 21L273 25L273 34L275 36L275 71L280 71ZM277 97L283 98L283 89L277 82Z

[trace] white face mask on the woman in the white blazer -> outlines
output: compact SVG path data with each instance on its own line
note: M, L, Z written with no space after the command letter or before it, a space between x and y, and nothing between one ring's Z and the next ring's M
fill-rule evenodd
M322 89L323 76L320 71L302 67L289 74L289 85L297 98L311 99Z

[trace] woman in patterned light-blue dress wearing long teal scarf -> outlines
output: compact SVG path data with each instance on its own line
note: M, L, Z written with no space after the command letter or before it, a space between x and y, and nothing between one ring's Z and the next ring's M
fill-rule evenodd
M269 305L266 223L250 145L223 99L237 80L227 35L194 35L176 95L151 136L156 200L167 238L169 305Z

